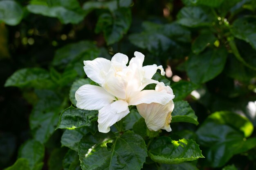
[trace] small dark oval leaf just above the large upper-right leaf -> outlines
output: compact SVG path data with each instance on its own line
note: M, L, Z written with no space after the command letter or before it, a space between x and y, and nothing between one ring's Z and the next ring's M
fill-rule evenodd
M216 40L217 38L213 33L211 32L202 33L195 39L195 41L191 46L191 49L193 53L199 54L202 51L204 51L204 49L206 49L207 46L213 44Z

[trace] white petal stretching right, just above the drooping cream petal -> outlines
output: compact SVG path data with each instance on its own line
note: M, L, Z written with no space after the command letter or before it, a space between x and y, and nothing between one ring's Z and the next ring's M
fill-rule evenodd
M174 98L174 95L168 94L165 91L154 91L154 90L144 90L139 92L137 95L132 96L128 100L129 105L138 105L138 104L150 104L150 103L159 103L167 104L171 99Z

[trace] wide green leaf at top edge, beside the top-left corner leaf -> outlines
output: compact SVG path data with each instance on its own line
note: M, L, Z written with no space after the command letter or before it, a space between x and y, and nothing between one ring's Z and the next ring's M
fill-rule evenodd
M31 13L58 18L63 24L77 24L85 16L85 12L76 0L47 0L47 4L32 3L27 5L27 10Z

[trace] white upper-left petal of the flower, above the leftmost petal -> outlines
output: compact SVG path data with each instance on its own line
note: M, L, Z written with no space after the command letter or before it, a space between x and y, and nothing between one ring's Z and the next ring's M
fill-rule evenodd
M105 58L96 58L92 61L83 61L83 64L85 65L83 67L85 74L92 79L92 81L101 85L104 82L104 75L106 75L110 69L111 62Z

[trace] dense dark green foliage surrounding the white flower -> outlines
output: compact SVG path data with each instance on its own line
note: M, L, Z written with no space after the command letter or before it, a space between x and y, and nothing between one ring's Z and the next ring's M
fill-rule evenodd
M134 51L166 68L171 132L76 108L83 60ZM255 0L0 0L0 76L0 169L256 169Z

